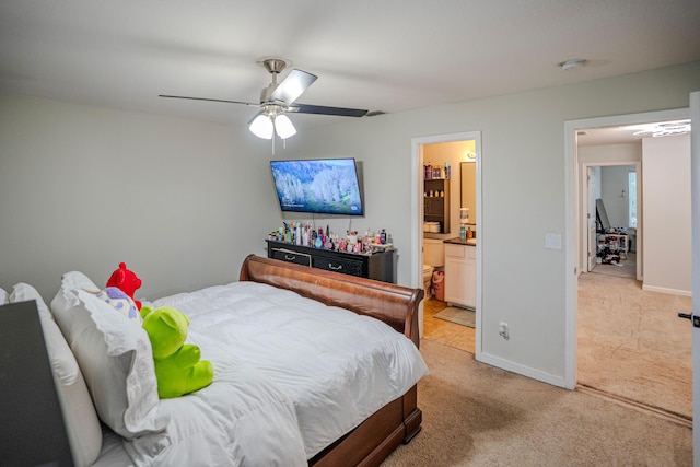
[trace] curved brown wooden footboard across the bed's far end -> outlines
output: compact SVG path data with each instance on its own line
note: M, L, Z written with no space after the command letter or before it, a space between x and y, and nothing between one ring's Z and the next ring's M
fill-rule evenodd
M241 281L288 289L330 306L381 319L419 346L418 304L422 289L347 276L249 255L241 267Z

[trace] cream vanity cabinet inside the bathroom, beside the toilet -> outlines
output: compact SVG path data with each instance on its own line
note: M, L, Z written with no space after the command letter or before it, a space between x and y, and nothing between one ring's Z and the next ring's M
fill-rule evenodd
M477 248L459 238L445 241L445 302L477 306Z

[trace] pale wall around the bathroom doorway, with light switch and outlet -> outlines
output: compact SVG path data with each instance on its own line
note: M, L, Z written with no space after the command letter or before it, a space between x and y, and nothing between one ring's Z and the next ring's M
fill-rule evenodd
M398 248L398 282L411 283L411 139L481 131L482 354L499 366L563 385L564 249L545 233L565 225L564 122L688 106L700 63L462 104L313 131L292 153L364 161L368 222L382 219ZM311 132L310 132L311 133ZM342 151L339 151L339 149ZM420 287L420 275L415 287ZM506 322L511 338L499 336Z

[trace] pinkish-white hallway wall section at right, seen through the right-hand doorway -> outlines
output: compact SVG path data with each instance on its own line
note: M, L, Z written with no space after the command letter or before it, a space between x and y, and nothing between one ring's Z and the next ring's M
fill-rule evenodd
M644 138L642 148L642 288L690 296L690 135Z

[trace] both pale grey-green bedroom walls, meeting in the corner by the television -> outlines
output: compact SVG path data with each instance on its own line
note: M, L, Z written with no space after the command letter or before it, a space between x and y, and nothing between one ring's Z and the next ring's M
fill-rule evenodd
M482 351L557 382L571 271L568 246L545 249L544 238L564 233L564 121L687 107L698 83L700 62L329 124L294 137L285 156L362 162L365 218L328 223L387 229L398 282L408 285L417 254L411 139L481 131ZM61 272L106 280L121 260L148 297L235 279L281 219L269 147L254 139L245 128L2 97L0 287L22 280L52 296Z

